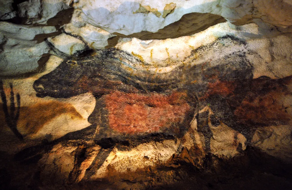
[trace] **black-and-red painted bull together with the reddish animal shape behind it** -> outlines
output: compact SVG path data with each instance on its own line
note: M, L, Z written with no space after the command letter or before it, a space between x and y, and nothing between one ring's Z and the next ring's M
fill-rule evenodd
M232 36L218 38L214 43L223 39L245 45ZM92 164L101 166L112 147L131 149L147 141L182 138L193 119L197 131L204 135L205 151L210 150L212 136L208 122L214 127L227 125L246 139L251 139L254 124L288 122L287 111L278 97L288 93L285 85L291 77L253 79L253 65L241 51L192 64L197 54L214 43L193 50L183 64L160 73L147 68L147 63L137 56L116 48L66 58L54 71L34 82L36 96L68 98L89 92L95 96L96 105L88 117L90 126L47 146L62 140L94 140L103 151ZM263 109L265 105L270 109ZM206 106L209 114L199 112ZM262 117L257 117L255 110L263 112Z

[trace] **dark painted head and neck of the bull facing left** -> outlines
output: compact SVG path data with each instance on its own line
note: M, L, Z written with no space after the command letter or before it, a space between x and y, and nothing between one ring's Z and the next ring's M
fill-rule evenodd
M65 59L55 70L34 82L36 96L68 98L86 92L94 96L107 94L122 83L121 61L113 57L114 53L114 50L104 50L88 57Z

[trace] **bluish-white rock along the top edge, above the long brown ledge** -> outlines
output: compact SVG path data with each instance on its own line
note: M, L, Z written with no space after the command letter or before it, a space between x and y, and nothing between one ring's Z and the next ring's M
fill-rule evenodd
M169 6L171 3L174 6ZM292 25L291 2L272 1L217 1L217 0L190 0L190 1L107 1L96 0L88 3L80 0L75 7L80 8L83 19L95 26L101 27L111 33L117 32L129 35L141 31L157 32L159 29L180 20L187 13L212 13L221 15L234 23L252 22L253 18L262 18L265 22L279 27ZM157 9L158 13L150 9L139 11L141 6ZM173 9L169 12L166 9ZM167 16L164 16L166 12ZM138 13L141 12L141 13ZM280 14L279 14L280 13ZM158 16L161 15L161 16ZM283 19L285 18L285 19ZM204 25L204 23L199 23Z

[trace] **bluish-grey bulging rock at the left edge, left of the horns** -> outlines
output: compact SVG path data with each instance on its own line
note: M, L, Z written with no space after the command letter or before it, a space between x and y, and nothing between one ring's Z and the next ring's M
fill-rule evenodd
M46 42L40 40L42 38L40 35L53 32L56 32L55 27L34 27L0 22L1 75L16 75L37 71L43 64L40 59L49 51Z

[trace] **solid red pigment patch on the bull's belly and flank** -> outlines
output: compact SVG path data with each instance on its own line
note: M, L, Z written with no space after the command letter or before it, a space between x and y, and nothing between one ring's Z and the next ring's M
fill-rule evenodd
M183 122L190 105L186 93L150 96L115 91L105 96L109 127L121 133L151 133Z

